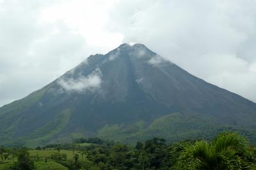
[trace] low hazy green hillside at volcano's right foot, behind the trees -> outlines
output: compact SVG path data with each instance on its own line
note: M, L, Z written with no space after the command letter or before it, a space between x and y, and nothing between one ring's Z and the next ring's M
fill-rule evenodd
M177 142L184 139L211 140L220 132L237 132L246 135L252 143L256 142L256 133L253 130L237 128L230 125L221 125L214 118L204 114L172 113L157 118L149 125L139 121L128 127L124 125L106 125L99 130L98 136L102 139L135 143L145 141L150 137L164 137L168 142Z

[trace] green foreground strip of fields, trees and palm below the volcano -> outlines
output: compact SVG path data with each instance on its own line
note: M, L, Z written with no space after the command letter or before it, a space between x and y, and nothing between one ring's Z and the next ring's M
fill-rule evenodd
M0 148L0 169L256 169L256 148L235 133L212 141L168 144L154 137L135 146L99 138L31 148Z

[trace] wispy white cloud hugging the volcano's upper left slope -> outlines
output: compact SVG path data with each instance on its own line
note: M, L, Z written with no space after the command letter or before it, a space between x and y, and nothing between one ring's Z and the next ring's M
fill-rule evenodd
M94 91L95 89L100 88L101 80L101 72L99 69L96 69L90 75L84 77L80 75L78 78L73 79L61 77L58 79L58 84L61 88L65 89L66 91L76 91L76 92L83 92L86 90Z

